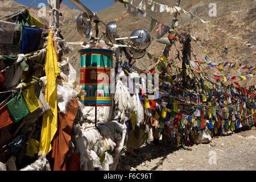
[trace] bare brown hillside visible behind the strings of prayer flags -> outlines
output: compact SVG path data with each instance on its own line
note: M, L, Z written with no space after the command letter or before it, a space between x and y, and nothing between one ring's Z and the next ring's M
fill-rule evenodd
M160 2L166 5L174 6L174 0L155 0L155 2ZM255 16L256 16L256 1L255 0L228 0L214 1L217 4L217 17L209 17L209 0L181 0L180 6L185 10L190 11L194 15L199 16L204 20L212 20L215 24L218 24L224 30L232 32L234 36L238 36L243 40L249 40L251 45L255 45ZM85 4L86 5L86 4ZM1 11L0 16L14 13L15 11L24 8L24 6L15 3L14 1L1 1L0 2ZM48 14L44 18L37 16L38 9L30 8L30 13L36 16L42 22L48 22ZM60 11L63 16L60 18L60 28L61 32L64 35L64 38L67 42L77 42L81 41L82 38L76 31L76 18L80 14L80 11L73 10L68 6L62 5ZM47 10L48 12L48 10ZM143 18L142 16L131 16L126 13L125 6L122 3L115 3L114 5L98 12L98 16L102 18L105 23L110 21L117 21L118 26L118 35L129 36L131 32L137 28L146 28L150 26L151 18L160 20L162 23L170 26L172 16L168 13L157 14L152 13L150 10L146 11L147 16ZM184 14L183 12L177 16L179 19L179 26L177 29L183 29L184 27L189 27L191 34L196 38L199 38L201 41L198 43L204 47L205 51L208 52L208 57L211 62L221 63L224 61L234 62L234 63L243 63L247 61L252 66L256 65L255 60L255 50L251 49L236 40L226 36L223 32L217 31L216 28L210 27L207 23L201 23L198 18L191 19L189 15ZM156 28L156 27L155 27ZM101 30L104 31L104 30ZM156 36L156 31L151 32L152 36ZM179 50L182 49L179 43L176 44ZM220 46L221 48L228 48L228 54L218 51L213 46ZM80 46L73 46L74 51L67 55L71 59L73 67L79 71L80 59L79 53L77 52L81 49ZM152 40L151 46L147 49L149 53L156 57L160 57L164 50L164 44L157 43L155 40ZM205 54L201 51L199 46L192 42L192 52L196 55L200 61L205 60ZM181 52L180 52L181 54ZM176 57L176 49L172 47L170 52L170 59ZM195 59L192 59L195 60ZM147 56L144 56L142 59L137 60L134 64L136 67L141 69L146 69L154 63L154 60L149 60ZM178 63L177 65L180 65ZM210 68L208 65L203 65L205 72L215 75L227 75L227 76L240 76L246 75L249 71L247 69L231 69L223 68L224 71L220 72L216 68ZM256 84L256 79L250 78L249 81L240 81L237 80L242 86L250 86Z

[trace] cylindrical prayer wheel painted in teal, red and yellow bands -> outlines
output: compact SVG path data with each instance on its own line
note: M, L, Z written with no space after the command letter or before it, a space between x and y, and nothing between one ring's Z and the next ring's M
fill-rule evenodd
M80 53L80 84L85 95L81 96L86 106L112 106L111 69L114 51L88 48Z

